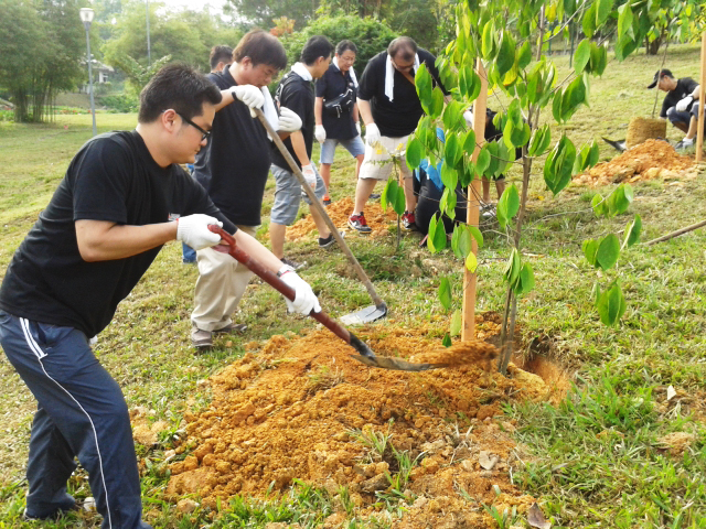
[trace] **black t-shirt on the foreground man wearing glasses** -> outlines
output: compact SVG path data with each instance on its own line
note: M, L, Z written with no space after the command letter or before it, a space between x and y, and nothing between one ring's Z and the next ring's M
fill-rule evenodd
M161 247L126 259L86 262L75 222L165 223L204 213L233 226L179 165L160 168L137 131L100 134L74 156L46 209L15 251L0 287L0 309L95 336L110 323Z

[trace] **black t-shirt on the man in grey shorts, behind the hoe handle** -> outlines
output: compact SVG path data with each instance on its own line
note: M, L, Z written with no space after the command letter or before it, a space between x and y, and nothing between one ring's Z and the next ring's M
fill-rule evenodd
M285 77L282 77L282 80L279 82L275 99L279 102L280 107L287 107L291 111L297 112L297 115L301 118L301 133L304 137L307 156L311 158L311 148L313 145L313 129L315 126L313 115L313 102L315 99L313 93L313 83L310 80L304 80L295 72L289 72L287 75L285 75ZM287 138L284 143L291 154L291 158L295 159L295 162L297 162L297 165L299 165L299 169L301 169L301 163L299 162L297 154L295 154L295 149L291 147L291 139ZM286 169L287 171L291 171L291 168L285 160L285 156L282 156L279 150L277 150L276 148L272 149L272 163L277 166Z

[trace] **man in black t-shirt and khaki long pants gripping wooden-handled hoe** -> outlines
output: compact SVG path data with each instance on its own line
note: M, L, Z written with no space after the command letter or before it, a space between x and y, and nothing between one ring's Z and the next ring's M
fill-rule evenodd
M212 139L196 155L194 177L238 229L255 236L269 176L271 142L263 123L250 116L248 105L232 91L236 96L237 90L252 93L252 106L264 107L265 116L282 139L298 130L301 120L287 108L278 118L267 89L287 65L287 54L276 36L261 30L248 32L232 60L224 72L207 76L222 90L223 102L213 120ZM207 348L213 345L214 333L245 331L245 325L233 323L231 316L253 272L229 255L211 248L197 252L197 262L191 343L196 348Z

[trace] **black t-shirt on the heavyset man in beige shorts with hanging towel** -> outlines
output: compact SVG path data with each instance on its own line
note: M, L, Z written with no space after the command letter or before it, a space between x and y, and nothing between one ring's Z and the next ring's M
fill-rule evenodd
M436 61L434 55L422 48L418 48L417 54L419 62L426 63L432 79L438 82L439 71L434 64ZM373 119L381 134L402 138L414 132L424 110L419 102L419 96L417 96L417 88L397 69L394 69L394 97L392 101L389 100L385 95L386 64L387 52L378 53L371 58L361 77L357 97L370 101ZM410 74L414 77L415 72L413 71ZM441 85L439 86L443 89ZM447 93L445 91L445 94Z

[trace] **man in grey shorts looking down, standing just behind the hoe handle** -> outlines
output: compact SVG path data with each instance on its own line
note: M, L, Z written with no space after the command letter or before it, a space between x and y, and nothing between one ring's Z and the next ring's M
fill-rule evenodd
M325 184L313 162L311 162L315 125L313 80L321 77L329 69L332 52L333 45L325 36L314 35L310 37L301 51L301 61L295 63L291 71L282 77L275 95L280 108L287 107L301 118L301 131L292 133L285 140L285 145L301 169L307 183L313 187L319 201L323 198ZM285 257L287 226L297 218L302 195L307 204L310 201L303 194L289 163L278 150L272 151L271 171L275 175L276 187L275 204L270 212L269 237L272 242L272 253L281 259ZM333 234L329 231L325 220L315 208L310 207L309 212L319 230L319 246L329 248L335 241ZM293 261L289 262L293 263ZM293 264L297 266L297 263Z

